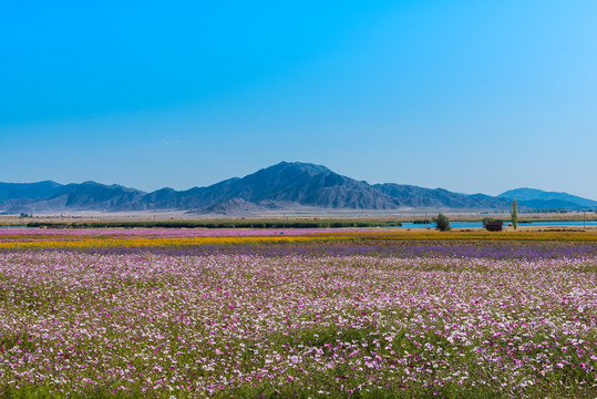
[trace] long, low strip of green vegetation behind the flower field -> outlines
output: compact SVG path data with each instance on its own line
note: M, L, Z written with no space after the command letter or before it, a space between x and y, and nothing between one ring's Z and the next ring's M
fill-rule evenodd
M127 221L127 222L30 222L27 227L45 228L328 228L328 227L389 227L402 226L391 221Z

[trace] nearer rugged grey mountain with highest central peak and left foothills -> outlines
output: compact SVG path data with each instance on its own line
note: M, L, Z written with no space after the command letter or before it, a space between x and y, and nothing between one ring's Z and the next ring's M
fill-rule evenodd
M58 185L58 183L56 183ZM351 209L394 209L391 196L366 182L339 175L326 166L281 162L243 178L229 178L208 187L187 191L161 188L152 193L95 182L58 185L45 197L0 202L10 213L50 211L195 211L226 213L284 209L296 206Z

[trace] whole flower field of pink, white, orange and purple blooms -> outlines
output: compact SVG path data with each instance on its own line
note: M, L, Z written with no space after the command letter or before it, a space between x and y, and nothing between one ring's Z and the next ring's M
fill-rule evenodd
M590 233L282 233L1 232L0 397L597 397Z

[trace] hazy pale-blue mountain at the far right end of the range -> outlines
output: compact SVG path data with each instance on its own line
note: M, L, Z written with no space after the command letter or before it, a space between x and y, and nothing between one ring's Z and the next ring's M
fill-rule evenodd
M498 195L534 209L588 209L597 208L597 201L568 193L545 192L537 188L515 188Z

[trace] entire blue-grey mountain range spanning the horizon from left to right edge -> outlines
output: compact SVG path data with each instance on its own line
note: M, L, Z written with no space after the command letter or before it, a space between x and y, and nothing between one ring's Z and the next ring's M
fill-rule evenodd
M370 185L326 166L281 162L245 177L186 191L161 188L152 193L95 182L61 185L0 183L0 211L43 213L61 211L187 211L243 214L272 209L507 209L516 197L521 208L597 207L597 202L566 193L517 188L498 197L460 194L395 183Z

